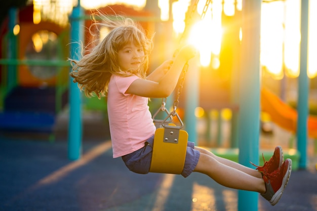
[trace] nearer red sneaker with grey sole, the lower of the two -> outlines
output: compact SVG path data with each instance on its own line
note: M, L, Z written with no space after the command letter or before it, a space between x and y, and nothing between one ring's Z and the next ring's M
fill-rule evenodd
M270 174L264 174L266 192L261 194L271 205L275 205L282 197L283 191L290 179L292 160L287 158L282 166Z

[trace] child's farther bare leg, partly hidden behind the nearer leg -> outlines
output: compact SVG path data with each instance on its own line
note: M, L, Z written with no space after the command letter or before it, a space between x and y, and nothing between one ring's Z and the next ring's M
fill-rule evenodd
M237 162L234 162L232 160L229 160L229 159L226 159L226 158L223 158L223 157L218 157L216 156L215 154L213 154L212 152L206 150L206 149L203 149L203 148L200 148L200 147L195 147L196 150L199 150L201 152L201 154L207 154L213 158L215 158L216 160L218 160L219 162L221 162L222 164L225 164L225 165L228 165L230 167L233 167L233 168L236 168L237 170L240 170L248 175L251 175L251 176L254 176L254 177L257 177L257 178L262 178L262 174L253 169L253 168L249 168L247 166L244 166L240 163L237 163Z

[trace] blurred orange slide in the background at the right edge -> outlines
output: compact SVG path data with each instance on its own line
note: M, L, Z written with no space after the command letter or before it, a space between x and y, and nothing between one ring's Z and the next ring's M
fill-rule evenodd
M296 133L297 110L265 88L261 90L261 109L268 113L271 120L281 126L281 128ZM308 116L307 130L308 137L317 138L317 116Z

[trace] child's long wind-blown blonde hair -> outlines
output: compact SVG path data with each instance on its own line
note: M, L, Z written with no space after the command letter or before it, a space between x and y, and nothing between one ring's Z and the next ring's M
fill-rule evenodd
M137 75L141 78L146 77L148 68L149 54L153 48L152 38L148 38L142 28L130 18L123 16L106 16L98 14L102 21L96 21L93 14L94 23L89 28L90 33L94 36L93 27L108 27L110 32L99 43L98 39L87 45L82 51L82 58L77 61L68 59L72 66L70 76L73 82L78 83L78 88L85 92L87 97L106 96L108 92L109 80L112 74L120 76ZM99 18L99 19L100 19ZM97 35L98 37L98 35ZM98 41L95 47L94 44ZM126 44L134 43L142 46L144 50L144 61L138 70L122 71L117 65L117 52ZM92 49L92 50L90 50ZM85 55L83 56L83 54Z

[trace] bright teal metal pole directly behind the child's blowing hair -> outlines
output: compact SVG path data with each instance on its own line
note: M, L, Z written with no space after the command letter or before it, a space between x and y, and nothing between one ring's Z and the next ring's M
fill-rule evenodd
M79 60L81 57L80 41L83 40L83 14L80 1L73 8L70 23L70 58ZM68 158L76 160L82 154L82 98L77 83L69 80L69 128L68 128Z

